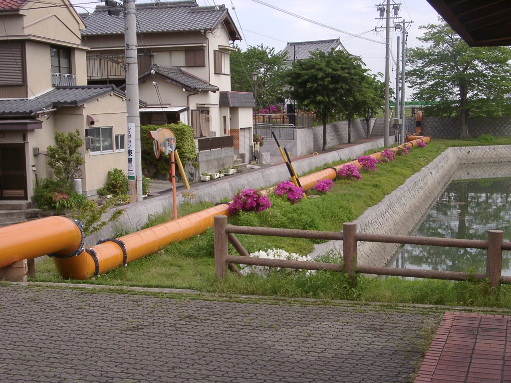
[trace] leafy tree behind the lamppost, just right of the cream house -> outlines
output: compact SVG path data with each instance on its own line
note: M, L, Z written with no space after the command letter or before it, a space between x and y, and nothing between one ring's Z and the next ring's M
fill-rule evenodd
M249 46L246 51L237 50L230 54L231 89L253 92L251 74L258 74L255 83L258 109L262 106L281 103L284 100L284 56L275 53L274 48L258 45Z

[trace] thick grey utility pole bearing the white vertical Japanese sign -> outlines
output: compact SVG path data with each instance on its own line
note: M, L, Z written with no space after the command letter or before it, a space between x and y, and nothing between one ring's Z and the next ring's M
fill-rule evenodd
M140 112L138 110L138 58L136 43L135 0L124 0L126 43L126 110L128 124L135 126L135 181L130 181L131 201L142 201L142 150L140 145Z

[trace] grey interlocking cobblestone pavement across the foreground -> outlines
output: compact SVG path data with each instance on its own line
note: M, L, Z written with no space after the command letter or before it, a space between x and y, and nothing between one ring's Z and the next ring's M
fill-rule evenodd
M0 381L408 382L442 313L0 285Z

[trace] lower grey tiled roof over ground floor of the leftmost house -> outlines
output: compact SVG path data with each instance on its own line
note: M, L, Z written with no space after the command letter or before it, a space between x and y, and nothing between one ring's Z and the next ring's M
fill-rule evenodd
M58 86L29 100L0 100L0 116L31 116L43 109L78 106L111 92L125 95L113 85Z

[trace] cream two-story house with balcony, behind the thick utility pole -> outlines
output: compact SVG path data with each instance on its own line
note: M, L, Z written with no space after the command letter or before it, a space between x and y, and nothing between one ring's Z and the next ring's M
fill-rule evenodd
M97 6L81 15L88 84L125 82L123 12ZM200 172L251 158L253 94L230 91L231 42L240 33L223 5L136 4L141 124L193 127Z

